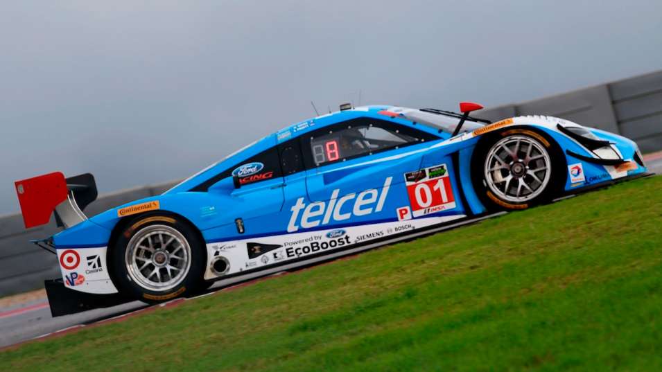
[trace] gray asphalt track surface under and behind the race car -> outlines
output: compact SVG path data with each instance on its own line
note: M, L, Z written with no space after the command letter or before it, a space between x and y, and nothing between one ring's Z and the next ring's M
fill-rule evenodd
M650 172L662 174L662 152L649 154L644 159ZM261 279L225 287L224 290L232 290L233 287L247 285L259 280ZM209 293L216 292L220 286L218 284L214 285L214 287L211 287L211 292ZM6 308L0 308L0 348L19 344L30 339L47 337L53 333L71 332L76 330L76 328L90 324L115 321L139 312L149 311L158 306L176 305L176 303L182 301L175 300L171 301L171 303L155 305L153 307L140 301L134 301L112 308L89 310L87 312L56 318L51 317L51 310L49 309L49 303L46 298L10 305Z

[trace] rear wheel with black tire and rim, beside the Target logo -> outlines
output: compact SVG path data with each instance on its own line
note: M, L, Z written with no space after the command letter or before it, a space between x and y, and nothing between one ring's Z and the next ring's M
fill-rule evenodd
M119 291L159 303L204 290L207 252L198 231L163 213L146 213L121 227L109 252Z

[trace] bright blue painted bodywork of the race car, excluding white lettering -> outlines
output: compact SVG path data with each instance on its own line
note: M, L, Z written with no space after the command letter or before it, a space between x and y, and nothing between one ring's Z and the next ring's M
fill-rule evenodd
M442 143L448 139L450 134L445 132L438 133L433 127L415 124L404 118L388 118L387 116L378 114L378 111L387 109L387 107L374 106L367 109L367 111L350 110L337 112L291 125L277 133L265 136L240 152L215 163L213 166L186 179L186 181L183 181L171 190L166 191L163 195L137 200L123 206L158 200L160 209L181 215L200 229L204 240L207 242L217 242L292 232L288 231L288 223L290 223L290 218L293 215L293 207L299 200L306 205L312 202L329 204L331 195L336 190L338 191L338 198L343 195L351 195L352 193L358 194L360 191L368 189L375 189L380 195L381 193L386 193L383 206L379 211L373 205L371 207L372 213L364 215L352 214L350 218L344 220L330 218L329 221L325 222L322 216L320 216L317 218L320 223L312 226L317 220L311 219L308 221L308 224L311 225L309 227L302 226L301 216L299 216L298 222L295 221L297 232L317 229L342 229L342 227L357 224L373 224L397 220L396 209L409 205L403 174L445 163L451 175L451 184L455 193L457 206L454 209L437 215L464 215L485 212L485 206L478 199L471 184L469 171L473 149L479 137L433 147L433 145ZM365 157L349 159L348 161L331 163L286 177L259 181L238 189L234 188L232 177L226 177L211 186L207 192L190 191L194 186L211 179L220 172L232 167L241 166L243 161L255 154L259 154L263 150L272 148L278 143L317 130L320 127L359 117L371 117L391 121L403 127L411 127L416 130L428 132L429 134L434 134L439 139L432 142L428 141L426 143L410 145L405 148L378 152ZM537 129L546 132L564 151L569 149L577 152L577 154L592 156L581 145L560 132L540 126L537 126ZM593 133L616 143L625 159L631 159L636 150L634 142L622 136L600 130L593 130ZM455 177L453 156L458 157L459 179ZM566 156L566 162L568 164L581 162L586 175L586 183L580 187L575 185L573 188L568 179L566 182L566 191L570 189L576 190L605 180L604 174L606 170L603 166L586 163L569 156ZM253 169L255 167L259 168L256 165L249 168ZM636 170L630 170L629 175L634 175L638 172L645 172L645 168L639 167ZM385 187L385 181L389 178L390 184ZM463 197L467 205L462 204L460 195L457 194L460 190L460 185L462 186ZM354 209L351 208L353 204L354 200L347 202L340 209L340 213L354 212ZM123 206L105 211L85 222L56 234L53 237L55 246L65 248L100 247L107 245L112 229L120 220L117 210ZM236 218L243 219L245 233L239 234L237 232L234 223Z

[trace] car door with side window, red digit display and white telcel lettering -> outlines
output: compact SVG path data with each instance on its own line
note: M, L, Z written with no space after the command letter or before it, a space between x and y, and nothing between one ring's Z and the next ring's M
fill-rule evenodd
M408 204L407 172L437 137L373 117L354 118L302 136L309 204L291 207L288 231L393 220Z

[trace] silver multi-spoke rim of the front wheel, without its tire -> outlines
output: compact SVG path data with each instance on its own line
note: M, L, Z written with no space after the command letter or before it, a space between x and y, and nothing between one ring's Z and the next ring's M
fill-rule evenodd
M485 181L500 199L528 202L550 181L552 163L543 145L528 136L509 136L495 143L485 158Z

